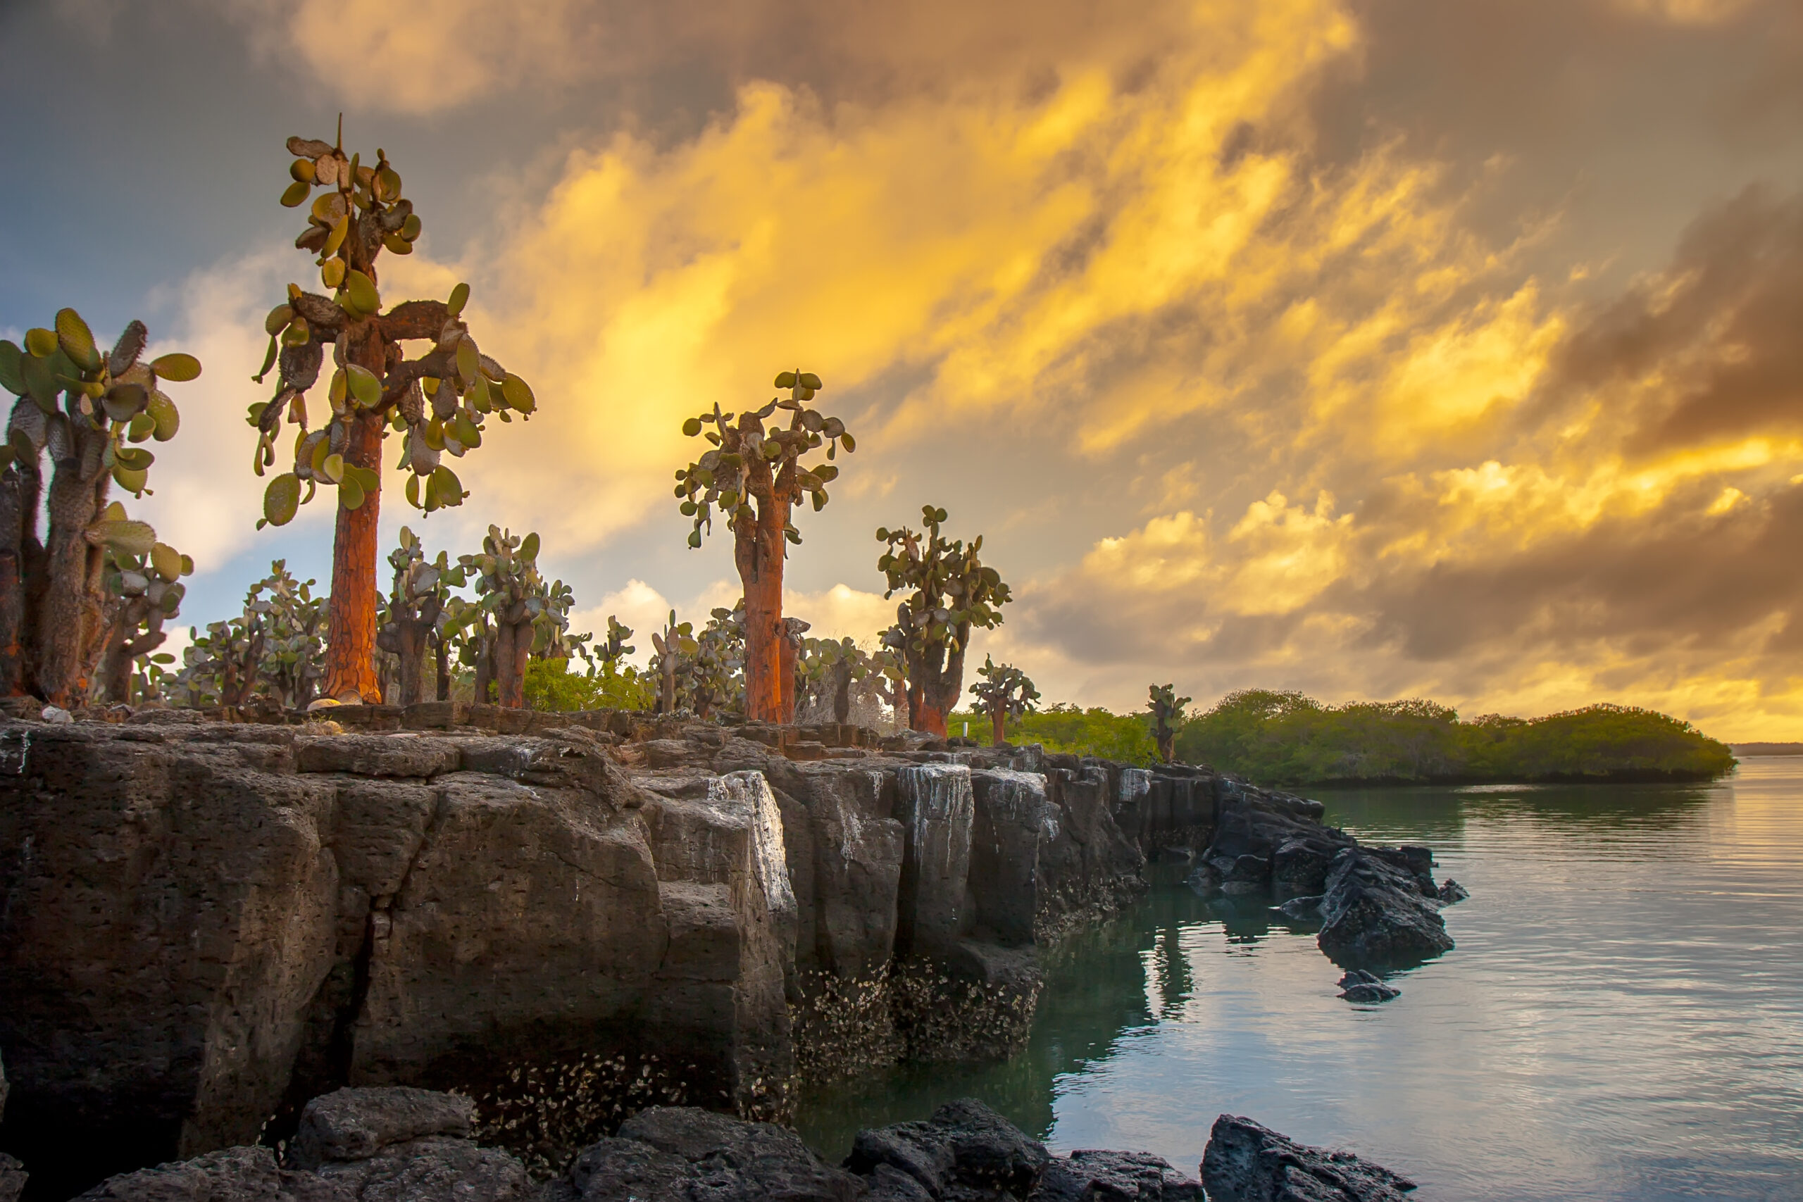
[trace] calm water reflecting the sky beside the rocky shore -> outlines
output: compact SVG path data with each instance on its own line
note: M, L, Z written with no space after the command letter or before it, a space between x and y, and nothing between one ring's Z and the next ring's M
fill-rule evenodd
M1058 1152L1197 1171L1244 1114L1417 1198L1803 1198L1803 759L1718 786L1316 793L1435 849L1459 946L1341 1002L1311 935L1222 923L1177 879L1058 952L1031 1045L813 1097L802 1135L977 1096Z

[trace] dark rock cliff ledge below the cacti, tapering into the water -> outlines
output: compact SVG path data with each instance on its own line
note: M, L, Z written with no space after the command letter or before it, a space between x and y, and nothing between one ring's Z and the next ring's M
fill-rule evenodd
M654 1105L783 1119L1006 1056L1037 950L1149 856L1349 968L1451 946L1426 849L1206 768L449 703L112 717L0 723L0 1150L43 1198L279 1143L341 1087L454 1088L543 1168Z

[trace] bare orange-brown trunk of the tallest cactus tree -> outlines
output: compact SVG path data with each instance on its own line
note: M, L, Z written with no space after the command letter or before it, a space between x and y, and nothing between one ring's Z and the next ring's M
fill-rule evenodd
M373 366L362 366L382 371L380 359ZM380 472L382 429L380 416L357 414L350 427L344 461ZM380 497L380 492L370 492L353 510L344 508L341 501L332 539L332 616L326 627L326 679L321 696L353 705L375 705L382 699L382 685L375 676L375 533Z

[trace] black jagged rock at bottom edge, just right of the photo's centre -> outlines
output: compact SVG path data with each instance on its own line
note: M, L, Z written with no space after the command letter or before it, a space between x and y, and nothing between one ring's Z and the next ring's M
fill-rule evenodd
M894 1123L858 1132L846 1168L869 1175L889 1164L918 1180L934 1198L957 1186L1026 1197L1051 1153L981 1101L948 1101L925 1123Z

